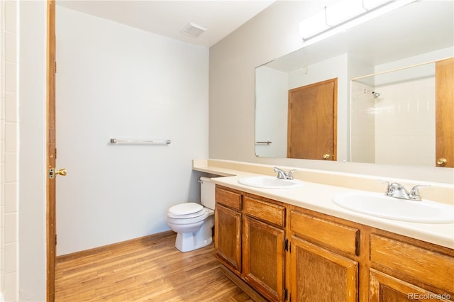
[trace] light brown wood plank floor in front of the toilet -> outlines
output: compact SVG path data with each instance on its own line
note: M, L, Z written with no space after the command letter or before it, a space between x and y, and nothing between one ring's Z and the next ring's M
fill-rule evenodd
M221 273L209 245L175 248L175 235L146 237L57 261L55 301L253 301Z

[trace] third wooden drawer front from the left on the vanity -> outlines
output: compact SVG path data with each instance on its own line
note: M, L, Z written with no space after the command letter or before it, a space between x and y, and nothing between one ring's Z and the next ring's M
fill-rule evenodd
M326 247L347 252L349 255L359 255L358 228L333 223L314 216L292 210L290 212L290 229L299 237L309 241L321 242Z

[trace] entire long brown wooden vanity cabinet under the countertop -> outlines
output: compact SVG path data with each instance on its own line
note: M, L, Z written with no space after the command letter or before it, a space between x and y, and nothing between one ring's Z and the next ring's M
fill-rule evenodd
M257 301L454 301L453 249L218 185L215 252Z

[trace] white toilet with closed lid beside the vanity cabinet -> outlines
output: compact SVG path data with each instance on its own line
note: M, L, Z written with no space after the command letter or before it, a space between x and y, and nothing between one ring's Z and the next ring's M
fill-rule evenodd
M214 225L214 188L208 177L200 177L199 203L180 203L167 211L167 224L177 233L175 247L189 252L210 245L213 241L211 228Z

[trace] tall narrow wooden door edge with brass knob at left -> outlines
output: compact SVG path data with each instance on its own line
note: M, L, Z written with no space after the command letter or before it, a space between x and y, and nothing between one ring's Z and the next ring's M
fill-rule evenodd
M46 51L46 161L47 168L55 167L55 0L47 0L47 51ZM55 178L46 181L46 300L55 300Z

